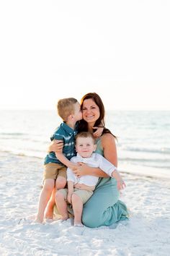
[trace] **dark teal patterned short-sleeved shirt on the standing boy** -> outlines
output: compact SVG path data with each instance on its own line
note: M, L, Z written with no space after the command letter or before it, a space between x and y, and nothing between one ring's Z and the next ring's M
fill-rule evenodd
M75 136L77 134L77 129L72 129L68 127L66 123L62 123L50 137L50 140L63 140L63 155L70 160L74 155L76 155L75 150ZM44 164L47 163L61 163L61 161L56 158L54 152L48 153L45 157Z

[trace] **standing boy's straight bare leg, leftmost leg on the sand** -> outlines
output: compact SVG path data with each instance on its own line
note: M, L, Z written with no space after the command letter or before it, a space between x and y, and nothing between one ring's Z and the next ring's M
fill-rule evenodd
M48 204L48 200L50 199L51 193L54 188L54 179L45 179L44 186L40 192L39 202L38 202L38 210L37 216L35 218L35 222L42 223L44 218L45 208Z

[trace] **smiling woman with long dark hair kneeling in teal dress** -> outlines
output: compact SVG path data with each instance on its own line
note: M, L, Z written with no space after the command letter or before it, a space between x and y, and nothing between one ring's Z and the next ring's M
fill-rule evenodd
M104 126L104 105L97 93L87 93L81 99L83 120L80 121L79 132L94 132L93 127ZM108 161L117 166L117 149L115 136L104 127L101 137L96 141L97 150ZM58 146L53 145L53 150ZM52 149L52 148L50 148ZM120 220L128 219L128 210L123 202L118 200L119 191L117 182L104 174L99 168L91 168L81 163L74 171L76 176L93 175L99 176L99 182L92 197L84 205L82 222L90 228L110 226Z

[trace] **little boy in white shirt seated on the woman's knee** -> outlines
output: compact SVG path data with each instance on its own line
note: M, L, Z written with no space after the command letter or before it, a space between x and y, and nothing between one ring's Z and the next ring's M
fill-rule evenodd
M87 163L91 167L99 167L109 176L117 180L118 189L125 187L120 174L117 172L117 168L107 161L102 155L93 153L96 150L97 145L94 144L94 137L89 132L81 132L76 135L76 152L77 155L71 158L71 162ZM93 194L95 185L98 181L97 176L81 176L78 178L73 174L70 168L67 168L67 182L68 189L61 189L56 194L56 205L59 213L61 213L62 219L68 218L67 202L72 204L74 213L74 226L83 226L81 223L81 215L84 203L89 200Z

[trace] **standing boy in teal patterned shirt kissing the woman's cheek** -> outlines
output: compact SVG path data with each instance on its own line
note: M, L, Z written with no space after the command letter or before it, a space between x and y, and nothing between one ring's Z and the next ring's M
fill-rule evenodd
M40 192L36 222L42 223L45 208L53 189L63 189L66 186L66 166L73 168L74 163L69 161L75 151L76 122L82 119L81 106L75 98L63 98L58 101L58 115L63 122L55 130L51 140L63 140L63 152L50 152L45 157L45 171L43 188ZM53 205L55 201L53 202ZM51 207L53 208L53 205Z

